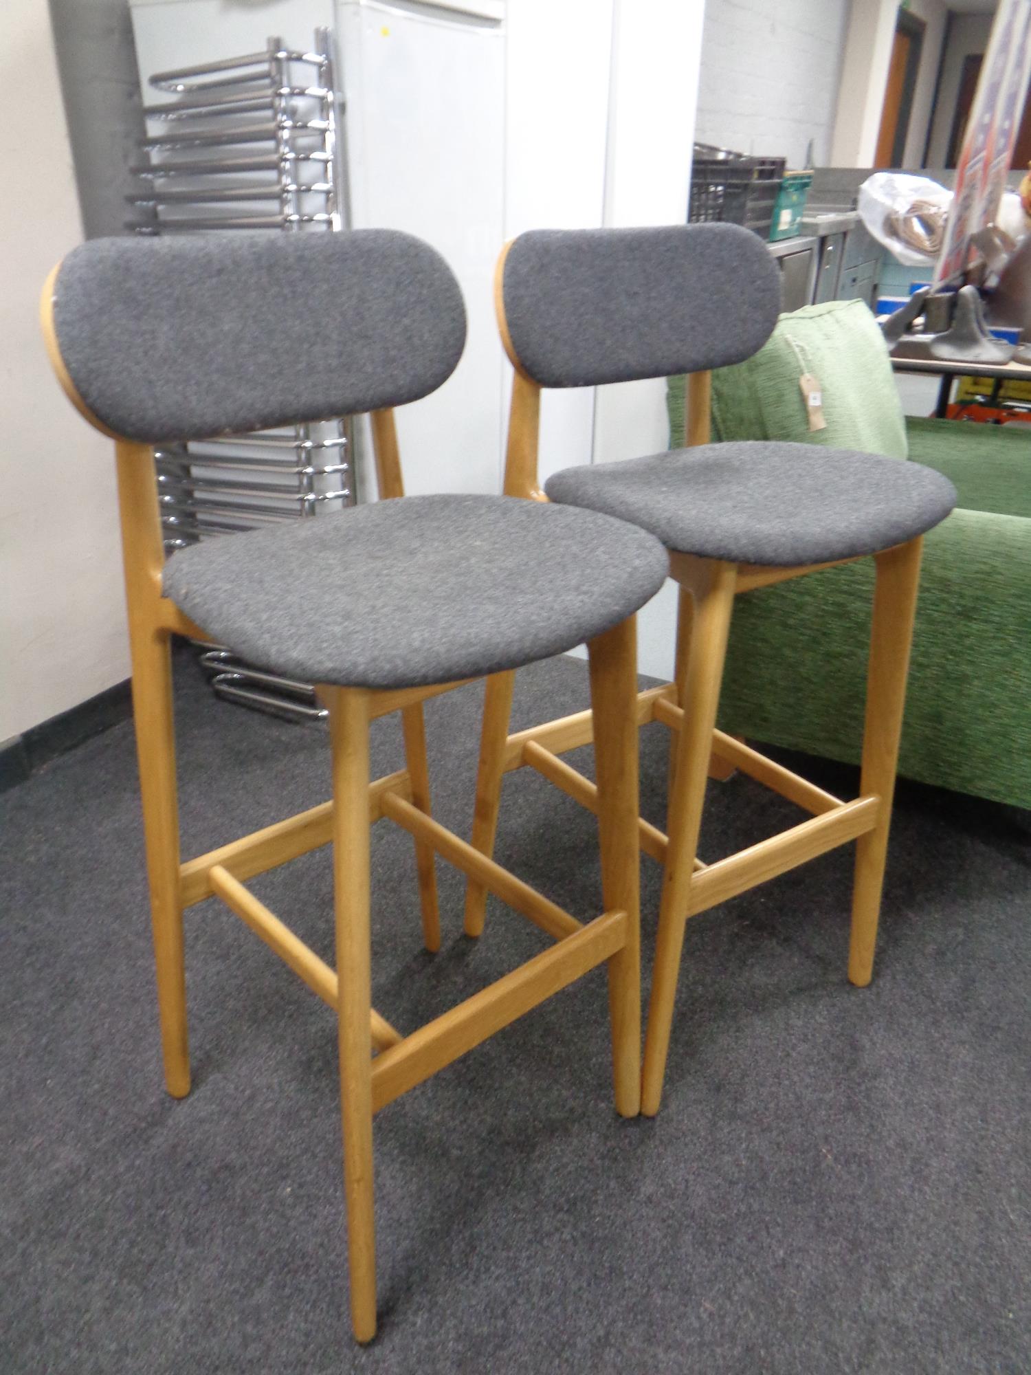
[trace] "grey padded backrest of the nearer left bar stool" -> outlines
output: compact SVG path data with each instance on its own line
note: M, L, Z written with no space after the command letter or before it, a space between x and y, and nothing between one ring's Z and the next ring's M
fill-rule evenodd
M447 263L395 230L93 239L60 264L54 324L89 410L144 443L414 402L466 337Z

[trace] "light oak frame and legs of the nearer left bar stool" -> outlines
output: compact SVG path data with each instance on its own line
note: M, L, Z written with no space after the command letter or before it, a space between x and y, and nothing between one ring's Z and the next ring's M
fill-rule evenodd
M333 799L183 862L173 737L170 637L209 639L162 595L164 543L154 452L114 434L82 402L58 346L52 297L43 293L43 330L55 373L77 410L115 441L118 502L129 612L132 697L150 883L158 1015L169 1093L190 1092L183 912L217 895L308 987L337 1012L351 1317L355 1336L375 1335L373 1116L531 1008L599 964L608 965L616 1111L641 1104L641 938L638 734L634 719L634 617L588 645L591 701L599 722L598 814L603 912L580 923L429 814L422 701L462 686L370 690L319 685L329 708ZM403 495L393 412L371 415L381 498ZM466 679L469 681L469 679ZM401 714L407 767L370 780L370 722ZM554 945L426 1026L403 1035L370 1000L370 826L389 817L417 847L423 934L440 943L434 857L440 855L540 927ZM333 844L337 968L331 969L275 917L242 880ZM373 1057L373 1052L378 1052Z

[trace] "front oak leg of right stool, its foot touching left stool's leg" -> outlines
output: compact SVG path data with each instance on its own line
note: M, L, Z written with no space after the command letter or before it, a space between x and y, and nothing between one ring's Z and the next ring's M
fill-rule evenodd
M658 909L656 961L645 1037L641 1111L654 1116L663 1096L669 1028L680 972L687 892L698 848L712 732L734 605L737 565L698 560L690 591L694 628L685 682L685 716L668 807L668 850Z

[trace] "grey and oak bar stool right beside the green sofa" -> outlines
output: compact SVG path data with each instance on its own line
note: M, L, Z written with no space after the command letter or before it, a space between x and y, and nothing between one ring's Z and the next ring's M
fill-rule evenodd
M506 492L575 505L657 535L680 586L676 681L638 696L638 722L672 733L667 835L645 821L641 848L664 865L645 1042L642 1111L665 1072L683 928L834 846L858 840L848 976L866 984L895 786L921 535L955 503L917 463L788 443L708 444L709 368L755 353L777 322L779 279L764 243L729 224L533 231L507 245L495 302L516 368ZM542 492L542 388L691 374L687 450L557 473ZM715 729L734 597L874 556L861 796L841 802ZM594 785L559 756L602 740L590 711L509 736L511 674L491 679L473 844L489 854L502 777L531 766L587 807ZM711 759L738 767L812 814L790 830L705 865L697 858ZM466 892L466 931L483 930L485 890Z

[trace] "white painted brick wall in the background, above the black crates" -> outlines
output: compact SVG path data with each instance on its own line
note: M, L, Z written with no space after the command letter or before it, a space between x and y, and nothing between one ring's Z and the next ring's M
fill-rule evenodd
M696 139L830 160L850 0L707 0Z

